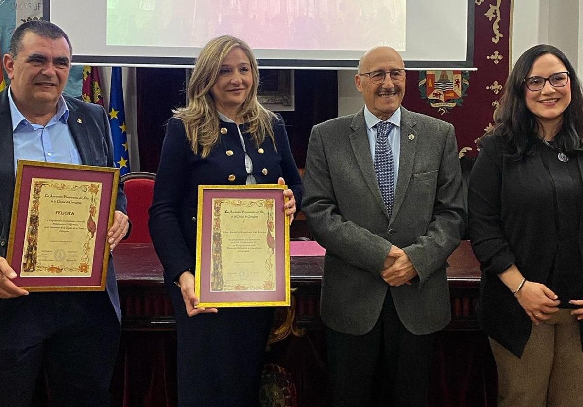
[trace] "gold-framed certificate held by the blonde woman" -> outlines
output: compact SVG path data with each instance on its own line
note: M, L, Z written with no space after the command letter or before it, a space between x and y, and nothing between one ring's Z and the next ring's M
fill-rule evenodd
M289 306L286 188L199 185L195 293L200 307Z

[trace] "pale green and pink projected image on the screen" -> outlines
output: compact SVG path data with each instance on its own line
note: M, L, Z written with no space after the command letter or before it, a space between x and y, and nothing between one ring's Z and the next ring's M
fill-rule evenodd
M107 0L107 45L202 47L231 34L252 48L405 50L406 0Z

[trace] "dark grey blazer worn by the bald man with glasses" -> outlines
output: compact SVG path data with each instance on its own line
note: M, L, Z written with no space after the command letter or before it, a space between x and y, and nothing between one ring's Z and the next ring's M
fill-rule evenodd
M465 227L454 127L401 108L401 155L391 219L381 198L364 110L314 126L304 173L303 210L326 248L321 315L328 327L361 335L377 321L389 285L380 273L391 244L419 277L391 287L413 334L451 319L447 258Z

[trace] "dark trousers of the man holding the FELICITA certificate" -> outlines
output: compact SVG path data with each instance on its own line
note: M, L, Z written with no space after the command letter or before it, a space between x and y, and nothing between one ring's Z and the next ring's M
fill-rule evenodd
M0 407L29 407L42 367L51 406L109 406L120 332L106 292L0 300Z

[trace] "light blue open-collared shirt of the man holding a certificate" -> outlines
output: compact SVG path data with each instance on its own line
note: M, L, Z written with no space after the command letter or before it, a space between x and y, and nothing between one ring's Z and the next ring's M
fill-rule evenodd
M69 108L62 95L57 103L57 113L45 126L31 124L26 120L14 104L10 90L8 101L12 117L15 174L18 160L81 164L81 157L67 125Z

